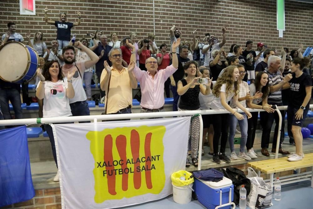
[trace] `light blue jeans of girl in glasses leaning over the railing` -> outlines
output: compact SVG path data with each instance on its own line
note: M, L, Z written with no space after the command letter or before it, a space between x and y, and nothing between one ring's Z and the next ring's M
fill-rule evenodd
M233 114L229 115L228 121L229 121L229 136L228 136L228 142L230 151L235 151L234 147L234 136L236 133L236 127L237 127L237 121L240 126L241 131L241 140L240 140L240 152L244 152L244 147L246 146L247 137L248 137L248 118L245 113L240 113L244 116L243 120L238 120Z

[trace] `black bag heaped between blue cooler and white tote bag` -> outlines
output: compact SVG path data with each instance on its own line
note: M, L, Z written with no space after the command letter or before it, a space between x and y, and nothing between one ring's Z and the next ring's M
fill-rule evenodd
M218 171L221 171L224 176L230 180L233 181L233 185L234 185L234 199L233 199L233 203L235 203L235 205L239 204L239 190L241 188L241 185L244 185L244 188L247 190L247 196L250 193L250 189L251 189L251 182L250 179L248 179L246 177L246 175L244 175L244 172L238 168L218 168L216 169Z

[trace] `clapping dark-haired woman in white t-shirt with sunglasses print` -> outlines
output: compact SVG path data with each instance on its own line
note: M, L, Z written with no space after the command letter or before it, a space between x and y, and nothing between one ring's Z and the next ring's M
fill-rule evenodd
M71 79L77 69L70 71L67 78L63 78L60 69L60 64L57 60L48 60L44 64L42 72L40 68L36 71L37 76L40 78L36 88L36 97L44 99L43 118L72 115L69 98L73 98L75 92ZM53 158L58 167L52 127L49 124L44 124L44 128L48 133ZM59 181L59 173L54 177L54 181Z

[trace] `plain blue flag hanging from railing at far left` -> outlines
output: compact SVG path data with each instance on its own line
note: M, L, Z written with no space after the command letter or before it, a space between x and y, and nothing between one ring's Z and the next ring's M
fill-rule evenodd
M35 196L26 126L0 131L0 207Z

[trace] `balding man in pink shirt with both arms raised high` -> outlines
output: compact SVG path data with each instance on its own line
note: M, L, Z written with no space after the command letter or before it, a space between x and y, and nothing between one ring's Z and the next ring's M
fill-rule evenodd
M135 46L128 41L127 45L135 50ZM135 66L132 71L141 87L141 112L161 112L164 105L164 82L171 76L178 67L176 48L180 45L180 39L172 44L172 65L166 69L157 71L157 60L154 57L146 59L147 71L141 71ZM135 61L135 56L131 56L131 61Z

